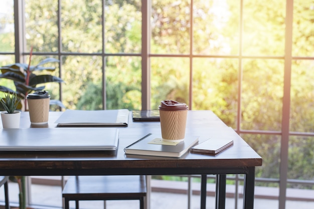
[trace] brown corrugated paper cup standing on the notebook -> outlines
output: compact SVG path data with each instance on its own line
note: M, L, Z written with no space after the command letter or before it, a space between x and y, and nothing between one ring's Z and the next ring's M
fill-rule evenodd
M186 103L163 100L159 106L162 138L164 141L183 141L188 109Z

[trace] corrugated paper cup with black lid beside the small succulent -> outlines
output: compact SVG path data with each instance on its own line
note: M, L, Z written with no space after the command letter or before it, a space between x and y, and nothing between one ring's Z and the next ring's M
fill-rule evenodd
M27 95L32 124L46 124L49 117L50 95L48 91L36 91Z

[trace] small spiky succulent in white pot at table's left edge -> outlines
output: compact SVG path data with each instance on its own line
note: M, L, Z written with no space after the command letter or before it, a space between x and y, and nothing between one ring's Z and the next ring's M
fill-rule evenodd
M16 110L21 98L16 93L8 92L0 102L6 111L1 112L2 125L4 128L19 128L21 112Z

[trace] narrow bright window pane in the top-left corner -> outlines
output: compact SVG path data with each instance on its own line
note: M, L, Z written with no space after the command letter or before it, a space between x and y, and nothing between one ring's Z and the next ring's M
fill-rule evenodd
M0 51L15 50L13 0L1 0L0 6Z

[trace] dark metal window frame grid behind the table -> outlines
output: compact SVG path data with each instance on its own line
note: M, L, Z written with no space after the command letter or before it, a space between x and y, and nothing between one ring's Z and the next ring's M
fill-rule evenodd
M103 108L106 108L106 89L105 89L105 57L106 56L140 56L141 57L141 78L142 78L142 84L141 84L141 102L142 102L142 109L149 109L150 108L150 57L188 57L190 60L190 83L189 83L189 106L190 109L193 109L192 101L193 101L193 93L192 93L192 74L193 74L193 58L195 57L204 57L204 58L237 58L239 61L239 82L238 82L238 89L241 89L241 78L242 78L242 61L245 58L256 58L256 59L281 59L284 60L284 78L283 78L283 101L282 101L282 118L281 118L281 130L280 131L262 131L262 130L243 130L240 127L241 124L241 90L238 91L237 96L237 118L236 118L236 127L235 130L237 133L250 133L250 134L277 134L281 136L281 147L280 147L280 177L279 179L276 179L275 181L279 183L279 208L285 208L285 199L286 199L286 187L287 183L294 182L293 179L287 178L287 171L288 171L288 146L289 146L289 136L291 135L306 135L306 136L314 136L313 132L309 133L303 133L303 132L291 132L289 130L289 119L290 119L290 87L291 87L291 64L293 60L297 59L310 59L314 60L314 57L297 57L292 56L292 24L293 24L293 0L286 0L286 28L285 28L285 54L283 56L244 56L242 54L242 38L243 38L243 1L239 0L240 3L240 31L239 31L239 37L240 37L240 50L238 55L196 55L193 54L193 21L191 21L191 27L190 27L190 52L189 54L152 54L150 53L150 8L151 8L151 1L150 0L141 0L142 7L142 31L141 31L141 37L142 37L142 50L140 54L136 53L123 53L123 54L109 54L105 53L104 49L101 53L95 53L95 55L101 55L103 60L103 85L102 85L102 102L103 102ZM104 0L102 1L103 4L105 3ZM59 27L59 37L58 37L58 52L34 52L33 54L38 55L56 55L58 56L59 60L62 60L62 57L65 55L90 55L86 53L68 53L68 52L62 52L62 46L61 46L61 31L60 31L60 21L61 21L61 0L58 0L59 4L59 10L58 10L58 27ZM193 0L190 0L191 4L191 10L190 10L190 18L193 19ZM25 13L25 0L14 0L14 19L15 19L15 52L1 52L0 54L12 54L16 57L16 62L25 62L27 55L29 55L29 52L26 51L26 39L25 39L25 19L24 19L24 13ZM104 9L102 10L104 13ZM104 24L104 23L102 23ZM102 25L104 27L104 25ZM104 34L102 34L104 36ZM104 38L103 38L104 41ZM104 46L104 42L102 43ZM60 63L59 67L59 73L62 77L62 63ZM62 100L62 84L60 84L60 99ZM258 179L262 180L262 179ZM265 181L267 182L267 180ZM304 181L305 182L305 181ZM309 184L312 184L313 181L306 181ZM305 182L305 183L306 183ZM237 196L237 195L236 195Z

